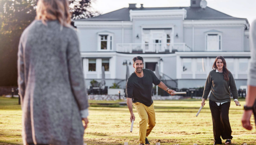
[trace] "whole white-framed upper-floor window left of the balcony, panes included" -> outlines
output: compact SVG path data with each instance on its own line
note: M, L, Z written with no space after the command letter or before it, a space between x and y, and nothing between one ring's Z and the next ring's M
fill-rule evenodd
M113 51L113 33L98 32L98 51Z

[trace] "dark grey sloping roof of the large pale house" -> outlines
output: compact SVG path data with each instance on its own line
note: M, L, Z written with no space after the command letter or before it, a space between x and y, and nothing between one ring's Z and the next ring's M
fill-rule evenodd
M116 11L112 11L103 15L88 19L79 19L77 21L130 21L130 10L143 11L143 10L178 10L185 9L187 11L186 19L245 19L236 18L220 11L214 10L210 7L203 8L191 8L191 7L160 7L160 8L122 8Z

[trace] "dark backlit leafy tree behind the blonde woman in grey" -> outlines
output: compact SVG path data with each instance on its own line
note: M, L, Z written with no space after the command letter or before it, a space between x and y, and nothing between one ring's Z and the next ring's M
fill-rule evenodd
M72 19L90 18L99 13L92 0L70 0ZM0 86L17 86L18 44L26 27L36 17L37 0L0 0Z

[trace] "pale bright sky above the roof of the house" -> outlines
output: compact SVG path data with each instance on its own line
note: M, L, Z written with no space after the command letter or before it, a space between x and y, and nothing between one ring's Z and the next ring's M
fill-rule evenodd
M93 1L93 0L92 0ZM190 6L190 0L94 0L92 8L101 14L109 13L121 8L127 8L129 3L136 3L137 7L175 7ZM256 19L256 0L206 0L207 6L227 15L247 18L251 24Z

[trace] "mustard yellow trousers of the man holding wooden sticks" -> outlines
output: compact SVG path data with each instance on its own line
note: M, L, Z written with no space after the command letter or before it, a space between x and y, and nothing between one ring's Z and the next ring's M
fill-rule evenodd
M154 103L151 106L146 106L143 103L133 103L141 121L139 121L139 143L145 143L146 137L156 125L156 114Z

